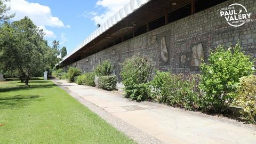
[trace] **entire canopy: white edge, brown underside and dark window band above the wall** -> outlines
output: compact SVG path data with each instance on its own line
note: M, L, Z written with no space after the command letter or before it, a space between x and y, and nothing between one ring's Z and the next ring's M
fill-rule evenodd
M219 3L216 0L207 3ZM94 53L122 43L127 39L195 13L203 0L131 0L91 35L84 39L76 49L66 55L57 67L65 67ZM138 32L138 33L137 33Z

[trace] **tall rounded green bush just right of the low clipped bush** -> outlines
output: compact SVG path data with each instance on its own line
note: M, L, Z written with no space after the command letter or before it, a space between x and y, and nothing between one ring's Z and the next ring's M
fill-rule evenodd
M125 60L121 76L127 98L138 101L149 98L150 89L147 83L152 69L153 62L146 57L134 56Z

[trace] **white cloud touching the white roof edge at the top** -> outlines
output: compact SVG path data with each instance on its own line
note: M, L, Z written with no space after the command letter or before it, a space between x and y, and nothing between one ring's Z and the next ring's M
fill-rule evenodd
M92 16L91 20L93 20L95 24L103 23L107 21L110 17L112 17L117 11L122 9L129 2L130 0L100 0L97 1L96 7L103 7L106 9L106 11L101 14L92 11L90 13L87 13L87 15L89 14Z

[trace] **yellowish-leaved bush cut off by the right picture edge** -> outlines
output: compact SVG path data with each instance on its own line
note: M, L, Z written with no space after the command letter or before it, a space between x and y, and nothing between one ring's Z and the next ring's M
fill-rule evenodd
M244 107L242 111L244 119L256 123L256 76L240 78L237 92L236 103Z

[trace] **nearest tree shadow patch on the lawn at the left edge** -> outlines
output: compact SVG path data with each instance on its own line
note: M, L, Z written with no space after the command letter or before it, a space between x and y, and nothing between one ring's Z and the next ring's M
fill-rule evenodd
M13 109L27 106L31 101L38 98L38 95L15 95L0 98L0 109Z

